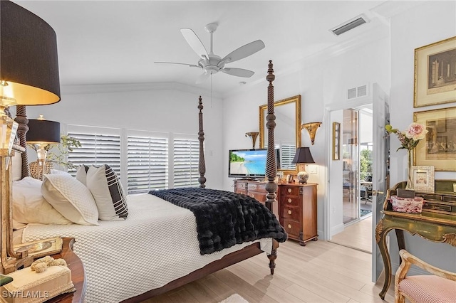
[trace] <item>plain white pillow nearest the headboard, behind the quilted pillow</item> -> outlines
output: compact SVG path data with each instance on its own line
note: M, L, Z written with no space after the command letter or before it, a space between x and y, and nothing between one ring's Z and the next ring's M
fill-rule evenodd
M71 224L44 199L41 183L29 176L13 182L13 219L18 223Z

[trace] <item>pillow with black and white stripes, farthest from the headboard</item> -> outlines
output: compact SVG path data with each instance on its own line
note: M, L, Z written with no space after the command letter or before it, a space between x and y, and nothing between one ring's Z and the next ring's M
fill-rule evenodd
M127 218L127 200L122 184L109 165L90 166L86 182L95 199L100 220L113 221Z

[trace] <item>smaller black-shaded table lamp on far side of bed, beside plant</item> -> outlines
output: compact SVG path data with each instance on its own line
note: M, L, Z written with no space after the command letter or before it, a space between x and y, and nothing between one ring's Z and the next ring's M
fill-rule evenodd
M37 174L35 179L43 180L43 174L48 173L46 170L46 156L48 154L48 145L60 143L60 123L44 119L40 115L38 119L28 120L27 143L35 144L36 155L38 157Z

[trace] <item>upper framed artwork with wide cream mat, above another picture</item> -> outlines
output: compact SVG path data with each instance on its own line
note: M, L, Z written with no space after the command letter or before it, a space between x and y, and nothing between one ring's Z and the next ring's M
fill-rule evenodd
M456 36L415 48L413 107L456 102Z

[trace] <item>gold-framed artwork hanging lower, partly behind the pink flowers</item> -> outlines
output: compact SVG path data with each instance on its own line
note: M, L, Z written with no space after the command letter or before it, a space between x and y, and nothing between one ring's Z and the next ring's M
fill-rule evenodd
M414 149L413 165L456 171L456 107L415 112L413 121L428 131Z

